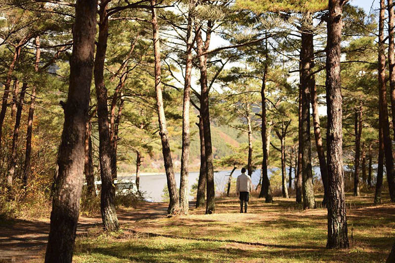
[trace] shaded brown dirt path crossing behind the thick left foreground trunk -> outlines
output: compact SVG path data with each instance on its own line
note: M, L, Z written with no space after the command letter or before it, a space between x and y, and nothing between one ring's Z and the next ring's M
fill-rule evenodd
M166 203L144 203L137 209L119 210L120 223L130 223L142 219L165 217ZM100 216L79 217L77 234L101 225ZM25 262L38 257L45 249L49 232L49 220L16 220L0 225L0 263Z

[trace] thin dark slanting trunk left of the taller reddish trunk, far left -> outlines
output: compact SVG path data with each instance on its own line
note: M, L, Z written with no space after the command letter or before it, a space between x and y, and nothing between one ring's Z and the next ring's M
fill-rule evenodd
M14 133L12 135L12 146L11 146L11 158L8 165L8 172L7 172L7 186L12 186L12 180L15 175L15 167L16 167L16 152L17 152L17 142L19 137L19 127L21 125L21 115L22 115L22 107L23 107L23 100L25 98L26 88L28 87L27 82L23 82L22 90L19 95L19 101L17 103L17 110L15 115L15 126L14 126Z

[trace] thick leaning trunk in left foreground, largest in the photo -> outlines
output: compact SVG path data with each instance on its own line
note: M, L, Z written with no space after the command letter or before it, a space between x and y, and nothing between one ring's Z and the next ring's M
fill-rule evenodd
M96 35L96 0L77 0L70 59L70 84L58 155L45 263L71 263L79 216Z

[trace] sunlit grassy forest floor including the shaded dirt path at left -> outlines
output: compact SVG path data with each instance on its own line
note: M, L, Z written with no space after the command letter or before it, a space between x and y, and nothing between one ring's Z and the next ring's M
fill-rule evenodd
M370 193L347 194L350 249L325 248L326 209L302 211L294 199L266 204L251 198L248 213L239 214L237 198L221 198L214 215L191 209L188 216L166 218L165 203L121 209L122 230L111 234L102 233L99 216L80 217L73 261L384 262L395 238L395 204L384 197L383 205L373 206ZM47 221L0 225L3 262L42 262L48 229Z

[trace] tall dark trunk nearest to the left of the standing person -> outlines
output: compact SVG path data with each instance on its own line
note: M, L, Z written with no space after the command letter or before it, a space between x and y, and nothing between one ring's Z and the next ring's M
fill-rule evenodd
M215 188L214 188L214 170L213 170L213 150L211 144L211 129L210 129L210 111L209 111L209 99L208 99L209 88L207 83L207 56L200 55L206 49L205 46L207 46L207 38L204 46L201 37L201 30L196 30L196 31L198 32L196 43L197 43L197 54L199 55L199 69L200 69L199 81L201 86L200 114L203 121L204 150L205 150L206 170L207 170L206 214L213 214L215 212Z

